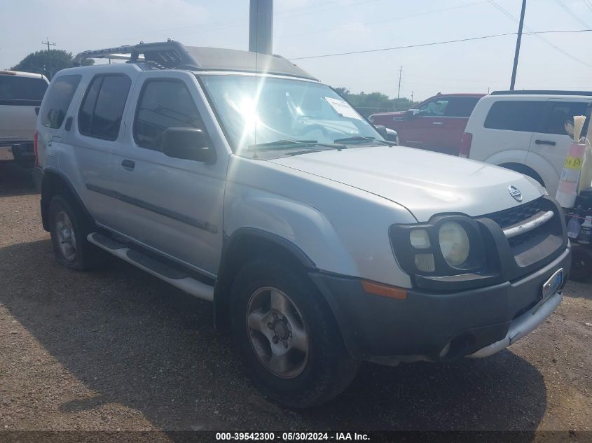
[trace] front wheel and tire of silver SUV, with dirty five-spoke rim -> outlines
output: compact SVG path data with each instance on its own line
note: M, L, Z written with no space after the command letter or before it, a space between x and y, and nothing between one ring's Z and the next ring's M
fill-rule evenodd
M283 300L279 310L275 309L277 297ZM289 262L259 259L240 270L230 298L230 325L254 385L286 407L311 407L331 400L357 374L359 361L347 353L322 295ZM275 343L270 337L279 340ZM282 345L284 364L278 365L272 362L272 357L278 357L273 350L283 352Z

